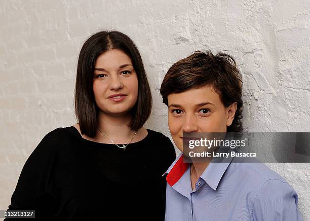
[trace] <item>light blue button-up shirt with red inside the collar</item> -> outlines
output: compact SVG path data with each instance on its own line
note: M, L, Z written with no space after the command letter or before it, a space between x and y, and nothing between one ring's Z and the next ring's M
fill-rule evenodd
M166 172L165 220L302 220L297 193L282 176L263 163L231 160L211 162L192 190L180 154Z

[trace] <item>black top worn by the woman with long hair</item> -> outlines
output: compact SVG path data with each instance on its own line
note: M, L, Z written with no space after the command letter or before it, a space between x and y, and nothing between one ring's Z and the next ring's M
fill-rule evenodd
M168 137L147 132L124 151L73 126L53 130L26 161L9 209L35 210L35 220L163 220L162 175L176 156Z

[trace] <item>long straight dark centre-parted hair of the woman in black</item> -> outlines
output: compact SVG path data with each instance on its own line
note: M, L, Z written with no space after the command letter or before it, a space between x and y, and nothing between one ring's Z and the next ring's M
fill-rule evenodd
M95 62L102 53L111 49L120 49L133 63L138 78L138 98L130 110L132 121L129 127L137 131L148 119L152 97L144 70L141 55L131 39L119 31L100 31L92 35L83 45L76 71L74 106L76 119L80 123L82 134L94 137L97 132L99 107L93 92Z

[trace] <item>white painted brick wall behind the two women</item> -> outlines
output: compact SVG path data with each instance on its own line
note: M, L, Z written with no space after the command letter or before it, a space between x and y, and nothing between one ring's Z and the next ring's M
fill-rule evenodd
M147 127L169 134L159 87L192 51L229 50L244 76L248 131L310 132L310 2L0 1L0 209L43 136L75 123L79 50L91 33L117 29L137 44L153 93ZM163 120L164 119L164 120ZM268 164L299 194L310 220L309 164Z

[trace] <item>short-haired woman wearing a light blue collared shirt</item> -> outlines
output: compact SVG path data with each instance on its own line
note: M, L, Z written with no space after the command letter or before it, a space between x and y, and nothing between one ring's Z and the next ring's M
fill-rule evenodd
M168 70L161 94L181 152L183 133L242 131L242 78L228 54L199 51L179 60ZM183 158L182 153L165 173L167 221L302 220L295 190L263 163Z

